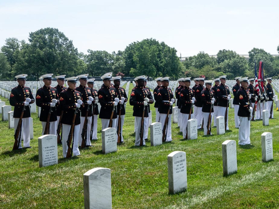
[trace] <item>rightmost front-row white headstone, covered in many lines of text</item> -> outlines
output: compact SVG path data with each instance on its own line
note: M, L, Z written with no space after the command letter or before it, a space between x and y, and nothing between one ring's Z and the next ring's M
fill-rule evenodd
M264 162L273 160L272 133L270 132L264 132L261 135L261 156Z

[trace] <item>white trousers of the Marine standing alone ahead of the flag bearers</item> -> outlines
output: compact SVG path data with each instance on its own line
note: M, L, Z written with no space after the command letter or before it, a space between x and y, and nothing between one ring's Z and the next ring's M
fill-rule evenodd
M250 121L248 117L240 117L240 126L239 126L239 135L238 135L238 144L245 145L250 144Z

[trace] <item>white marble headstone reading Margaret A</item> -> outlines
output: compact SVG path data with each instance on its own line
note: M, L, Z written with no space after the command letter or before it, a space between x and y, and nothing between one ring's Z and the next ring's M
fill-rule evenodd
M105 128L102 130L102 151L103 154L117 151L116 128Z

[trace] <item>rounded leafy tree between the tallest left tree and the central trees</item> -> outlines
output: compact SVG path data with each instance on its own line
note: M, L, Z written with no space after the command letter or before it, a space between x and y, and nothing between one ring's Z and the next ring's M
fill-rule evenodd
M87 50L86 63L90 76L102 76L107 72L112 72L113 56L107 51Z

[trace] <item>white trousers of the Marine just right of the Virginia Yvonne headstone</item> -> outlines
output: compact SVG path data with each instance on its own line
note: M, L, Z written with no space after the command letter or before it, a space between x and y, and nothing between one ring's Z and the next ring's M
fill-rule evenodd
M69 132L70 132L70 128L71 125L67 125L67 124L62 124L62 135L63 135L63 141L62 141L62 147L63 147L63 157L66 157L67 155L67 151L68 151L68 145L67 145L67 141L68 141L68 136L69 136ZM73 138L72 138L72 143L74 141L74 144L71 146L73 146L73 156L77 156L80 155L79 152L79 125L75 125L74 127L74 132L73 132Z

